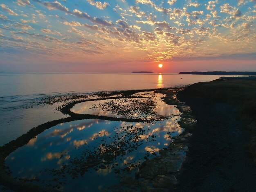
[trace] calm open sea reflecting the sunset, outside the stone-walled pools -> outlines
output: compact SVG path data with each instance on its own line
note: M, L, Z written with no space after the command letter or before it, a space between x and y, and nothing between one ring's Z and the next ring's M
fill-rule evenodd
M47 96L184 86L220 76L181 74L0 73L0 145L32 127L65 117L56 106L38 106Z

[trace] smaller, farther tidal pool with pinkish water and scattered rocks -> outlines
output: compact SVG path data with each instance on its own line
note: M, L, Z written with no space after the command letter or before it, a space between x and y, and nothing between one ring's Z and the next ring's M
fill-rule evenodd
M179 110L174 105L168 105L162 100L165 94L139 92L132 96L143 96L144 98L117 98L86 101L74 105L70 111L77 114L93 114L133 119L162 118L179 114Z

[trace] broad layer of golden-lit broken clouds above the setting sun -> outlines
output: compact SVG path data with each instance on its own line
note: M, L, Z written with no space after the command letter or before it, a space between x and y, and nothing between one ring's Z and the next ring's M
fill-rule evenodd
M0 4L0 48L74 63L193 60L254 51L255 1L231 4L229 0L220 5L218 0L126 2L13 0L8 7ZM96 8L102 11L90 11Z

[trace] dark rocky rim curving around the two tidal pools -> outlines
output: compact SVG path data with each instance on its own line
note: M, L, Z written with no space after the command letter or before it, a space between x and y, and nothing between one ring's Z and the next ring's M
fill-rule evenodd
M164 97L163 100L168 105L176 105L177 108L180 110L180 112L182 112L182 114L180 115L181 120L179 124L182 125L182 127L185 128L185 130L184 132L182 132L182 134L180 134L179 136L176 136L174 141L171 142L169 146L159 150L159 156L156 156L155 158L142 163L141 167L139 167L139 172L137 172L135 176L135 179L128 177L125 179L125 182L120 181L120 186L117 186L117 187L118 189L121 189L122 186L126 186L127 185L126 181L127 179L129 179L129 181L132 182L132 185L135 188L141 188L142 191L156 190L156 189L168 191L168 188L171 188L173 185L175 185L175 183L177 183L177 180L176 180L177 172L180 170L182 162L184 161L184 158L182 156L175 155L175 153L179 154L181 151L182 153L186 152L186 149L187 149L186 140L189 136L191 136L190 128L193 128L193 125L194 125L193 122L195 122L195 121L191 121L193 119L193 116L191 115L190 108L186 106L185 103L180 103L176 99L175 95L177 94L177 89L179 88L127 90L127 91L120 91L120 92L105 92L105 93L99 92L98 95L101 98L83 99L83 96L81 96L80 99L78 98L79 100L75 100L75 101L73 100L70 103L64 104L62 108L59 108L59 110L63 112L63 114L68 114L70 117L50 121L42 125L39 125L37 127L34 127L30 129L29 132L27 132L27 134L23 134L16 140L13 140L7 143L6 145L0 147L0 175L1 175L0 184L14 191L26 191L26 190L56 191L55 189L52 189L52 188L45 188L40 185L26 183L25 181L13 178L11 176L11 172L9 172L9 167L6 167L5 165L5 161L4 161L5 158L11 152L27 144L30 141L30 139L36 137L38 134L42 133L44 130L49 129L60 123L90 119L90 118L104 119L104 120L110 120L110 121L147 122L148 121L147 119L115 118L115 117L90 115L90 114L75 114L71 112L70 109L75 104L82 103L85 101L102 100L102 99L110 99L110 98L133 98L132 94L135 94L137 92L155 91L155 92L166 94L166 97ZM111 97L112 95L119 95L119 96ZM140 98L140 97L136 96L136 98ZM150 121L155 121L155 120L157 119L150 119ZM168 161L169 163L166 163L166 161ZM162 166L158 166L159 164L162 164ZM148 174L149 171L151 171L150 174ZM163 177L163 174L165 175L164 177ZM140 179L140 182L134 182L138 178ZM172 181L171 183L169 182L169 179L171 179ZM153 188L149 186L150 184L149 180L154 183Z

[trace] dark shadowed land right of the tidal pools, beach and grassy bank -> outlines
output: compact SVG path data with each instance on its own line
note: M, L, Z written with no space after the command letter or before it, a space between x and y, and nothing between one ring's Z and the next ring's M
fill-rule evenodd
M197 124L188 141L177 191L256 190L255 113L243 110L249 98L254 98L255 82L214 80L195 83L178 94L191 107ZM253 90L237 103L236 94L245 94L246 84Z

